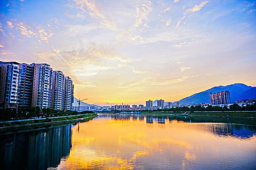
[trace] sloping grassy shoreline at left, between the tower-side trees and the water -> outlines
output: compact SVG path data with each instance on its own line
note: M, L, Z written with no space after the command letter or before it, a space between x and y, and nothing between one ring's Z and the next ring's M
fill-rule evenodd
M48 127L52 127L52 126L68 125L68 124L76 123L76 122L79 122L82 120L90 120L97 116L98 115L96 114L93 116L79 118L79 119L69 119L69 120L59 120L59 121L52 121L52 122L40 122L40 123L4 126L4 127L0 127L0 135L7 134L7 133L20 132L20 131L29 130L29 129L39 130L41 128L48 128Z

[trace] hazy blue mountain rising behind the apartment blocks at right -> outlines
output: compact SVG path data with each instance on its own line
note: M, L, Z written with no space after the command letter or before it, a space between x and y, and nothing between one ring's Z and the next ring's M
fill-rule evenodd
M235 102L236 100L239 99L240 95L241 95L241 97L246 98L246 99L256 98L255 93L254 94L252 93L252 92L255 92L255 88L256 87L252 87L252 86L248 86L248 85L244 85L244 84L238 84L238 83L233 84L233 85L226 85L226 86L220 85L220 86L216 86L216 87L210 88L208 90L196 93L192 96L186 97L177 102L180 102L180 104L196 104L196 103L201 103L201 102L208 103L208 102L211 102L210 92L217 93L217 92L225 91L225 90L229 90L230 100L231 100L231 102ZM252 89L252 91L248 91L250 89Z

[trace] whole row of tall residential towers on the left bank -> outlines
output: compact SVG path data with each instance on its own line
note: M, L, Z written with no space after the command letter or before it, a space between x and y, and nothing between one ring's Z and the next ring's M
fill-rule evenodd
M72 79L48 64L0 61L0 108L72 110L73 96Z

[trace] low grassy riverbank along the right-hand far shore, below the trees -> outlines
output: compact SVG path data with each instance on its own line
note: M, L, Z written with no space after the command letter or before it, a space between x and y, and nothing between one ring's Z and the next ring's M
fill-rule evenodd
M182 112L141 112L140 115L160 116L160 115L177 115ZM252 112L190 112L189 115L195 116L214 116L214 117L233 117L256 119L256 111Z

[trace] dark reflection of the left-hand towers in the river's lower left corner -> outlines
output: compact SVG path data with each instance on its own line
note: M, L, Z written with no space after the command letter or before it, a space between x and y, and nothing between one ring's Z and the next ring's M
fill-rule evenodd
M0 136L4 170L45 170L56 167L71 149L72 125Z

